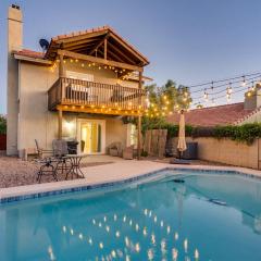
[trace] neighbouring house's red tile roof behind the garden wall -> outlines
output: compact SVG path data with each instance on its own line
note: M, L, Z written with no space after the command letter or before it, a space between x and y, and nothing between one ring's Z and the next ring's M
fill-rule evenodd
M186 124L192 126L211 127L216 125L238 124L254 113L257 109L244 109L244 102L217 105L202 109L195 109L185 113ZM178 124L179 114L174 113L167 117L167 122Z

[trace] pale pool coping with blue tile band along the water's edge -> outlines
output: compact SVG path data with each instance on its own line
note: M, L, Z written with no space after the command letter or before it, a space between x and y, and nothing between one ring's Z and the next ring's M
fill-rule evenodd
M88 183L85 179L74 179L74 181L62 181L55 183L45 183L45 184L33 184L33 185L25 185L18 187L10 187L10 188L1 188L0 189L0 206L3 206L9 202L14 201L22 201L27 199L34 198L42 198L49 197L54 195L62 195L75 191L87 191L97 188L109 188L114 187L117 185L126 185L137 181L146 179L147 177L156 176L161 172L167 170L179 170L179 171L199 171L199 172L231 172L239 175L245 175L249 177L258 177L261 178L261 171L246 169L246 167L238 167L238 166L220 166L220 165L171 165L165 163L162 164L161 167L149 171L146 173L136 173L134 176L130 177L123 177L116 178L105 182L96 182L96 183Z

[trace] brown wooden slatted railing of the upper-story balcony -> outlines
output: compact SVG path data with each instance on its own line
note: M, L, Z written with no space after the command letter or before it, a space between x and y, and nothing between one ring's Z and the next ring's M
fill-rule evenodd
M145 97L144 89L61 77L48 90L48 108L86 105L142 111Z

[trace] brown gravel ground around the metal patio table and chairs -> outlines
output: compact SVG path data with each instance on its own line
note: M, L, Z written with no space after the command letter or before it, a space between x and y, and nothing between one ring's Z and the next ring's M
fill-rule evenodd
M82 167L110 164L112 162L83 162ZM4 187L15 187L29 184L37 184L36 174L39 170L39 164L34 161L23 161L15 157L5 157L0 154L0 188ZM69 175L69 179L72 176ZM76 178L76 176L74 176ZM65 179L65 174L58 174L59 181ZM53 182L53 177L49 175L44 175L41 177L41 183Z

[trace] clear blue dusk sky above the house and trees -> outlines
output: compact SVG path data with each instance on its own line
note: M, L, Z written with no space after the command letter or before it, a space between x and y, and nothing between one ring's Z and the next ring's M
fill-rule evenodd
M7 15L24 14L24 48L73 30L112 26L150 61L145 75L158 85L261 71L260 0L27 0L0 2L0 113L7 112ZM37 88L37 86L36 86ZM233 101L243 100L243 94Z

